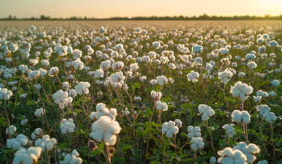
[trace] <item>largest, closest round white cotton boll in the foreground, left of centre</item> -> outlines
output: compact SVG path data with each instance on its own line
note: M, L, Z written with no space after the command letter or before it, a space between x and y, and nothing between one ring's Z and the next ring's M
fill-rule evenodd
M116 135L121 131L121 127L117 121L112 120L107 115L103 115L92 124L91 130L92 132L89 136L95 139L95 141L103 141L105 145L114 146L117 141Z

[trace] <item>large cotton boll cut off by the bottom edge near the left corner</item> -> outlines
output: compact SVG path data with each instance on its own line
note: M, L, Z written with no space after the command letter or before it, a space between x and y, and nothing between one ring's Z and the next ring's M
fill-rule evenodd
M16 151L16 154L13 159L13 164L33 164L36 163L40 157L41 148L30 147L20 148Z

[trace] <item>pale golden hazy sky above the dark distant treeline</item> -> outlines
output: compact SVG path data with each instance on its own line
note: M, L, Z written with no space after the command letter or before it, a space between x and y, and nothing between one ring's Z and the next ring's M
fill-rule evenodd
M87 16L264 16L282 14L282 0L0 0L0 18Z

